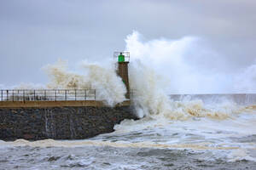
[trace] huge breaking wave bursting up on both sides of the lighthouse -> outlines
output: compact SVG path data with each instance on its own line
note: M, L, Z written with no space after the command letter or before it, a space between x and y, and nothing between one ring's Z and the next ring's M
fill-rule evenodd
M139 117L150 116L159 119L185 120L194 116L226 118L242 108L230 99L207 105L202 99L173 101L169 94L231 94L255 93L256 65L250 65L237 75L229 75L211 68L196 69L196 62L189 59L191 48L199 38L183 37L179 40L156 39L143 42L137 31L125 39L125 50L131 53L129 77L132 95ZM198 47L197 47L198 48ZM204 47L201 47L204 48ZM200 49L198 49L200 50ZM201 51L208 51L206 49ZM198 52L199 53L199 52ZM213 53L213 52L207 52ZM203 53L204 54L204 53ZM202 55L202 52L198 54ZM114 106L125 100L125 85L116 74L113 62L81 62L80 71L70 71L67 61L59 60L54 65L44 66L49 83L43 88L95 88L96 99ZM106 64L108 63L108 64ZM38 87L38 86L37 86ZM22 84L16 88L32 88Z

